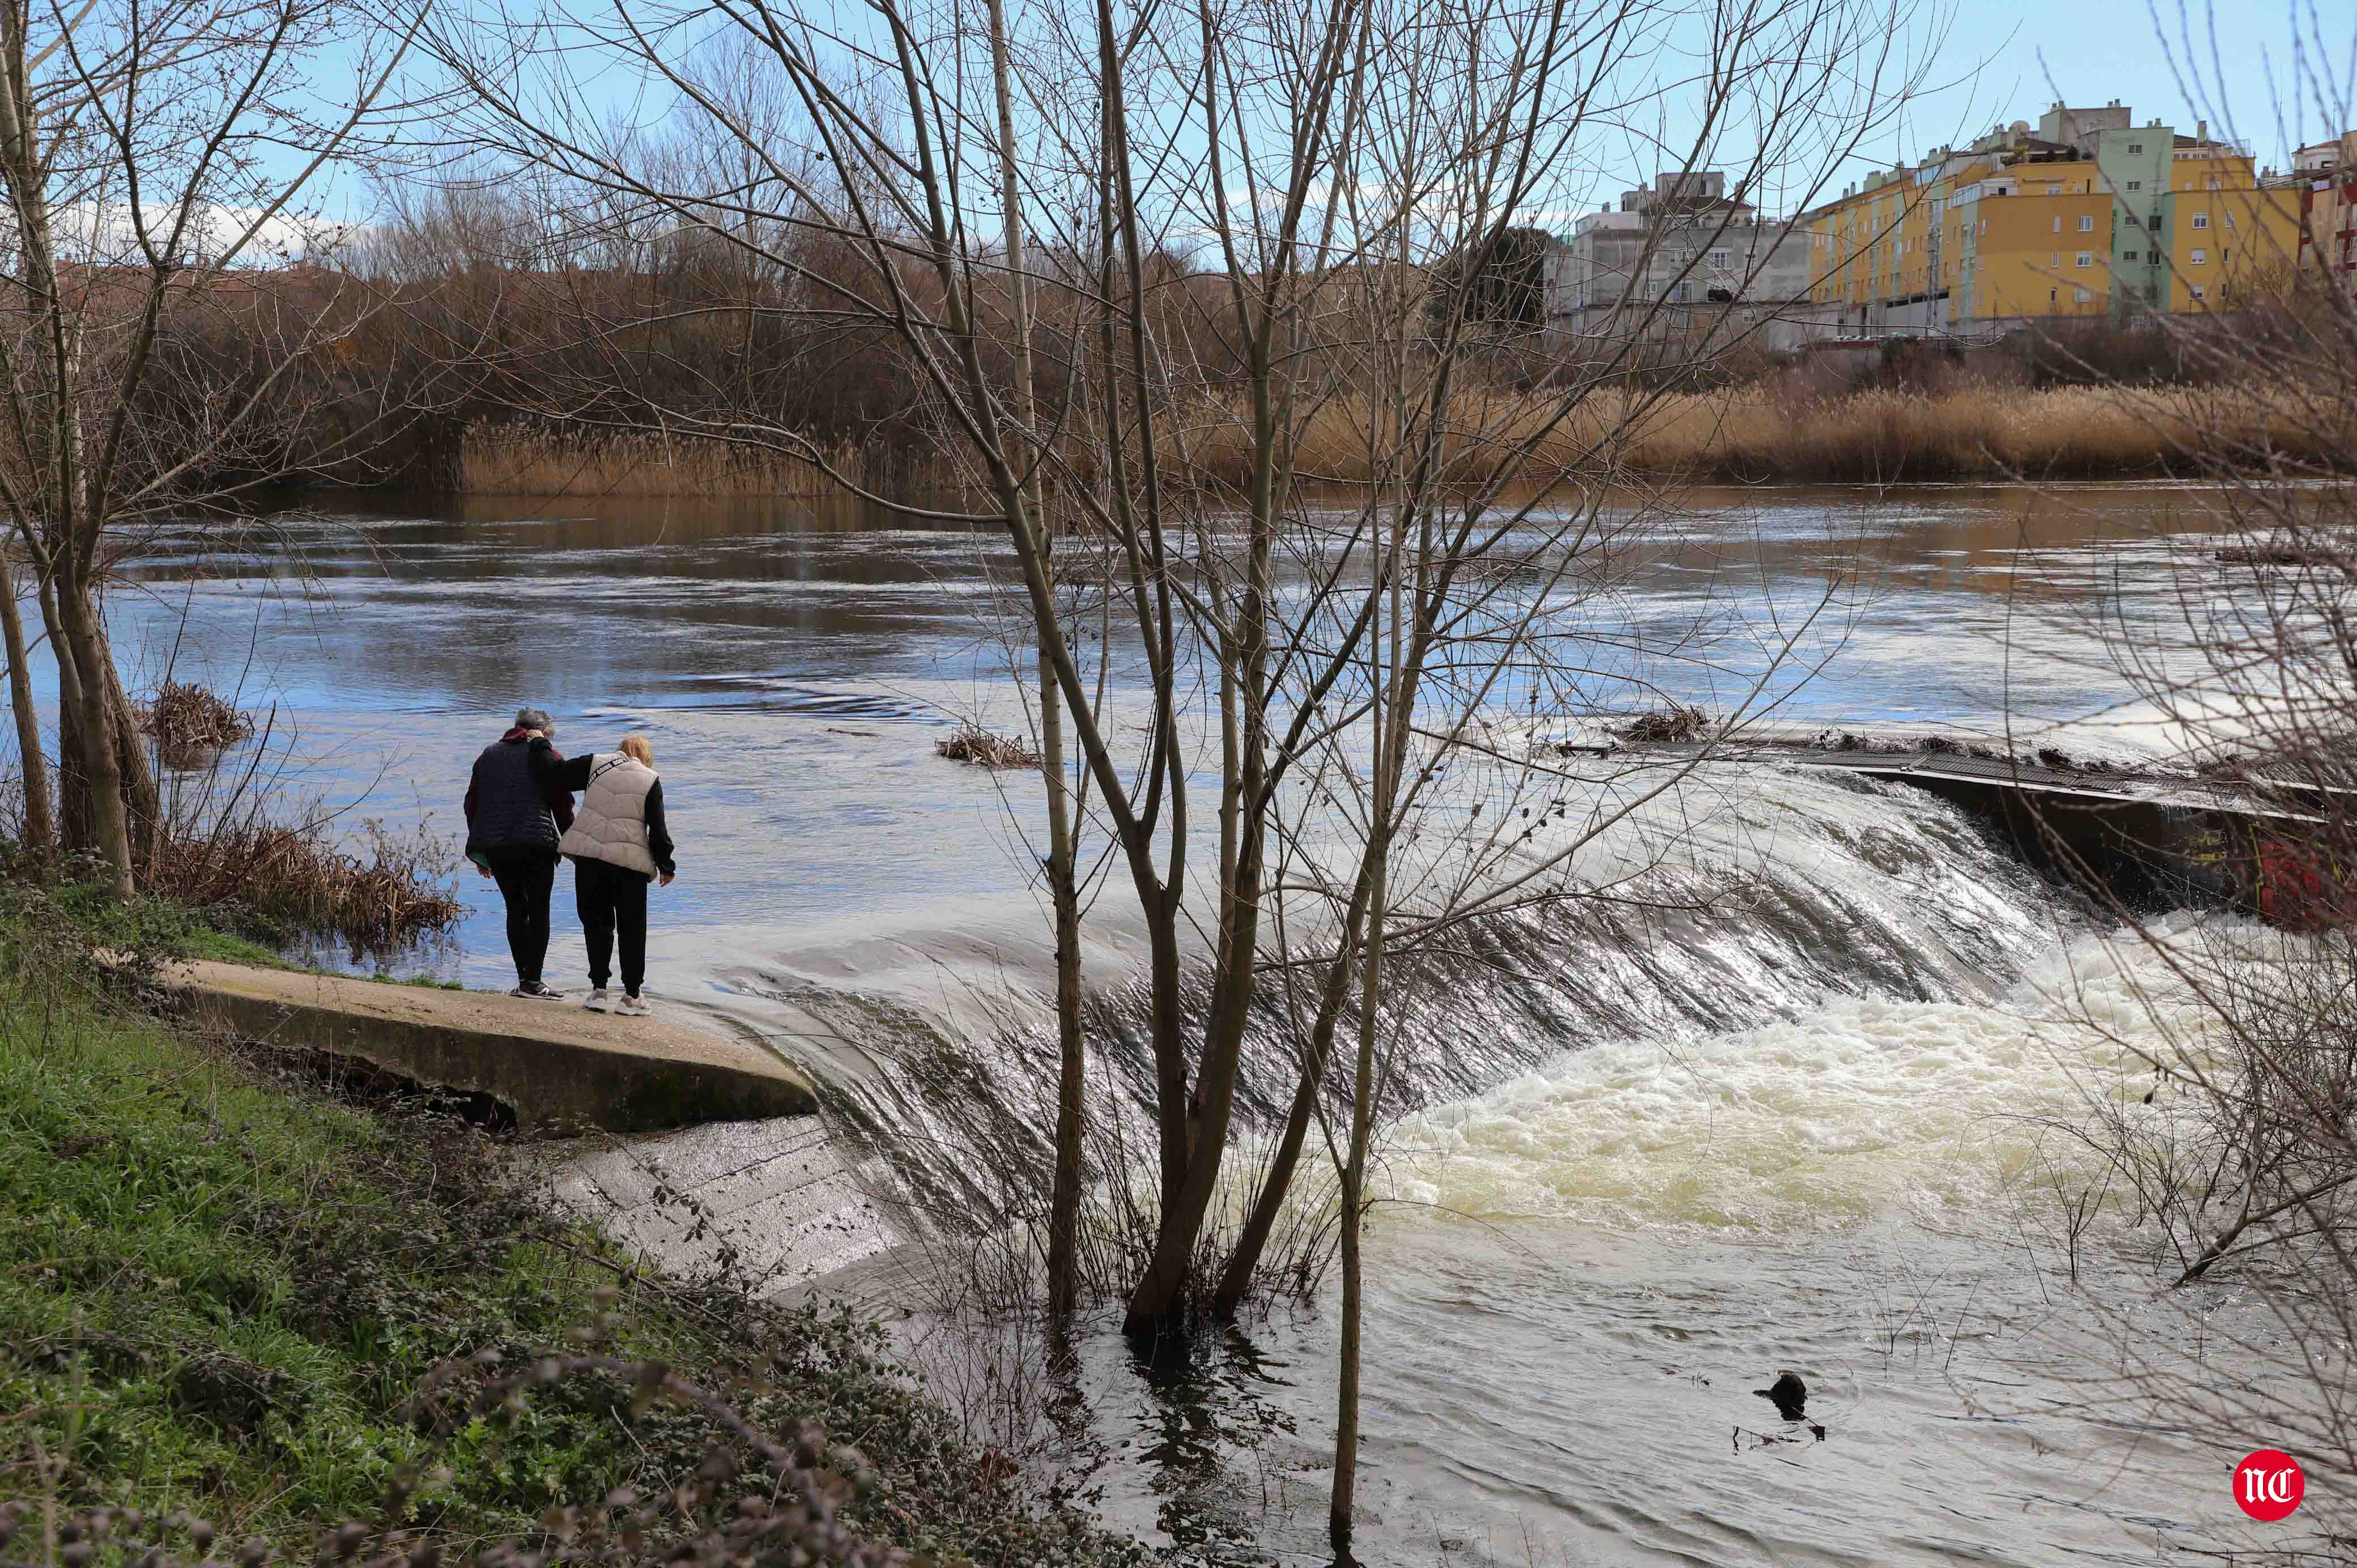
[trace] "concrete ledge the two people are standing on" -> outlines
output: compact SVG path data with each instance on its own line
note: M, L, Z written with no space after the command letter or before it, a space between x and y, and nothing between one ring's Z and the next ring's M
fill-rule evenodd
M245 964L193 962L167 979L198 1016L245 1037L488 1094L519 1122L653 1132L818 1111L811 1080L759 1045L660 1019Z

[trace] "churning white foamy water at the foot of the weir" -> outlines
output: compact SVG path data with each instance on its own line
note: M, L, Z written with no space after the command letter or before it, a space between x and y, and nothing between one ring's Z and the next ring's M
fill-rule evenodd
M2088 1094L2150 1087L2150 1061L2197 1028L2171 990L2126 934L2081 936L1989 1004L1860 997L1721 1035L1615 1040L1402 1120L1386 1170L1398 1198L1480 1219L1956 1224L2051 1165L2053 1125L2084 1118Z

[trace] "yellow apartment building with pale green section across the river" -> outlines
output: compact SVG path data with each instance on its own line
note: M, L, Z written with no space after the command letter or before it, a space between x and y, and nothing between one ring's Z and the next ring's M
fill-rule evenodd
M2298 191L2206 125L2135 125L2114 99L1869 174L1798 224L1827 330L1978 337L2279 285Z

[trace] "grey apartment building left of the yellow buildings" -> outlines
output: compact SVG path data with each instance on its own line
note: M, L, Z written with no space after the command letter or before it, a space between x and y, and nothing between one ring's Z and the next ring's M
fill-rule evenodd
M1784 307L1808 297L1808 243L1728 193L1718 170L1659 174L1591 212L1546 252L1558 347L1655 342L1794 347Z

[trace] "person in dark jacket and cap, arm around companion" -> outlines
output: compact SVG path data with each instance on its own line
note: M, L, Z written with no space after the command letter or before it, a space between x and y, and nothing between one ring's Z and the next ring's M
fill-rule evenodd
M507 995L563 1000L540 981L549 957L549 891L556 887L556 842L573 825L573 795L563 788L563 757L549 745L556 724L540 707L516 712L516 724L483 747L467 783L467 858L500 884L507 903L507 950L516 988Z

